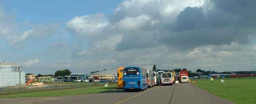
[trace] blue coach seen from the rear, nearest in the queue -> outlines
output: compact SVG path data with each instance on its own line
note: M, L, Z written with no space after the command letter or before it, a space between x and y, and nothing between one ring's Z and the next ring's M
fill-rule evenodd
M147 89L147 70L140 67L125 67L123 72L124 90Z

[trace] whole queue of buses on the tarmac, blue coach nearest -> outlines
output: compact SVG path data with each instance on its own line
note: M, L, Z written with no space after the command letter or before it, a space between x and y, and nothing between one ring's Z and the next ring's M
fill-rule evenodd
M141 67L130 66L117 69L118 88L128 90L142 90L154 87L156 85L173 85L175 81L186 82L188 71L181 70L176 73L144 69Z

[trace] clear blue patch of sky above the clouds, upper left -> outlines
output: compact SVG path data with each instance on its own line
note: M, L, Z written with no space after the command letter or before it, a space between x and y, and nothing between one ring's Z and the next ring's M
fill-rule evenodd
M112 14L122 0L5 0L6 12L14 14L19 22L60 23L65 26L75 16L90 15L97 12Z

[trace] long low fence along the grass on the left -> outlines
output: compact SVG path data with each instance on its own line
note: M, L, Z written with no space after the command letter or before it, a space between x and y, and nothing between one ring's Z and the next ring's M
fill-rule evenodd
M58 89L69 89L69 88L83 88L91 86L104 86L117 84L117 82L95 82L95 83L84 83L84 84L54 84L54 85L39 85L39 86L15 86L15 87L3 87L0 88L0 95L12 94L12 93L24 93L24 92L35 92L43 90L58 90Z

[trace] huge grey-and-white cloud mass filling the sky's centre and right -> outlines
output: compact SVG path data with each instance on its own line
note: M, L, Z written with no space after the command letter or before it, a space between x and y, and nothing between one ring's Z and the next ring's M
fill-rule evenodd
M126 0L113 14L76 16L66 28L89 44L73 55L98 60L80 65L155 63L159 69L235 71L256 63L249 38L256 32L255 5L250 0Z

